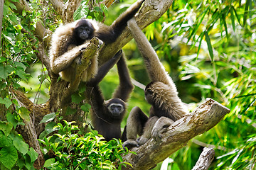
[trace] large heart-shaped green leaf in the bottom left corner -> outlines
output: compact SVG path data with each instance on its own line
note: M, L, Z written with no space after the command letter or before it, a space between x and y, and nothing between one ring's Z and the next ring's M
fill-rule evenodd
M11 169L18 159L18 153L15 147L3 147L0 151L0 162Z

